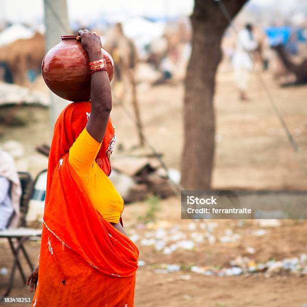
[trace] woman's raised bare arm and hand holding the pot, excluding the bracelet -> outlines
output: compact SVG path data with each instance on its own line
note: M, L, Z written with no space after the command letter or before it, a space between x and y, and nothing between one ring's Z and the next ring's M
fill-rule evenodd
M102 59L100 37L87 29L80 30L79 36L89 61ZM86 130L100 143L104 137L111 109L112 94L108 74L105 70L96 71L91 74L91 115Z

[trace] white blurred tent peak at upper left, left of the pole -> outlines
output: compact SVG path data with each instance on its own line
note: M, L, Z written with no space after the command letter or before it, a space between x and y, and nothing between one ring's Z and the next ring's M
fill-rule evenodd
M20 39L30 39L35 32L21 24L14 24L0 33L0 46L10 45Z

